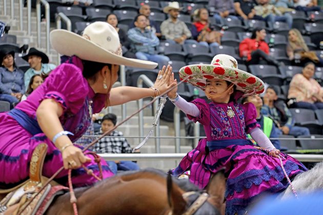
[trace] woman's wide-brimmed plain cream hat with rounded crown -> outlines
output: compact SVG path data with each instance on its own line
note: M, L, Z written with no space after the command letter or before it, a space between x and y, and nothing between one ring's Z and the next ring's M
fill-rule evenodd
M83 36L56 29L50 33L52 47L62 55L76 55L95 62L154 69L157 63L122 56L117 31L106 22L95 22L84 29Z

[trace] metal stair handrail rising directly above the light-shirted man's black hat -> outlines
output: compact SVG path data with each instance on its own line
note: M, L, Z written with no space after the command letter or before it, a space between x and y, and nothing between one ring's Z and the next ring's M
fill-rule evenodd
M50 53L49 47L49 28L50 28L50 9L49 3L46 0L37 0L36 12L37 12L37 45L41 47L41 3L45 6L45 19L46 19L46 51Z

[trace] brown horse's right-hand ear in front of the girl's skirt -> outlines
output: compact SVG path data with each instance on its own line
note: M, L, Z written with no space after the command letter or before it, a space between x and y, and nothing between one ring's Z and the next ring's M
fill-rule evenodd
M206 188L210 195L209 202L216 208L221 208L224 202L226 191L226 177L224 175L225 169L218 171L213 177Z

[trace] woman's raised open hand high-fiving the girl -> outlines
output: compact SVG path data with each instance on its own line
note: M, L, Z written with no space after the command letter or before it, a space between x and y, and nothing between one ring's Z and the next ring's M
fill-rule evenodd
M176 85L176 82L170 82L172 75L172 67L168 65L167 67L163 67L163 69L159 70L158 76L154 83L154 87L158 89L159 95L164 94L167 90L171 89Z

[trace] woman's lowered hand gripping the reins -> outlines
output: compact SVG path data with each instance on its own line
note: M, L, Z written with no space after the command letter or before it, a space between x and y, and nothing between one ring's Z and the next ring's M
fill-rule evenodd
M82 150L73 144L63 149L62 156L65 169L77 169L81 167L83 163L91 161L91 158L86 157Z

